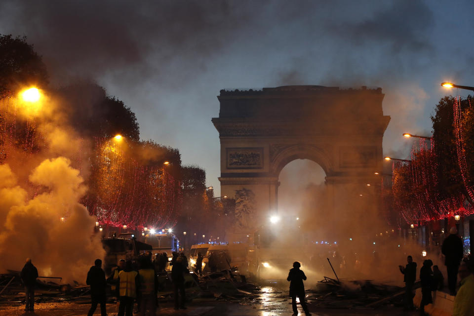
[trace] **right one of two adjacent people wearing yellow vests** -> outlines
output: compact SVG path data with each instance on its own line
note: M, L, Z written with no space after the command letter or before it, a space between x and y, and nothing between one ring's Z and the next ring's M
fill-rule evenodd
M158 277L148 256L140 257L138 270L138 297L140 299L140 315L155 316L157 310ZM148 313L147 313L148 311Z

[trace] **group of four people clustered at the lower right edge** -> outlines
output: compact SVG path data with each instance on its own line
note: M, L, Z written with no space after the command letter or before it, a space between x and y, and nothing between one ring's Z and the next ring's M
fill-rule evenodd
M443 241L441 252L445 258L448 291L450 295L455 296L452 315L474 316L473 262L470 257L464 258L463 242L457 235L456 227L452 227L449 233L449 236ZM399 269L404 275L403 281L405 282L404 309L414 310L413 289L416 282L417 264L413 262L412 256L408 256L405 267L399 266ZM419 276L422 295L420 315L425 315L425 306L433 303L433 292L444 290L445 282L439 267L433 265L431 259L423 261ZM456 291L458 279L460 287Z

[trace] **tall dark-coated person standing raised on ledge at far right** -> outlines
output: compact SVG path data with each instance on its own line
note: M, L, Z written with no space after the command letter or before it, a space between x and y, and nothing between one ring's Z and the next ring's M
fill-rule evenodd
M449 230L449 236L443 241L441 252L445 257L444 264L448 274L448 287L451 295L456 295L458 269L464 255L463 240L458 235L455 226Z

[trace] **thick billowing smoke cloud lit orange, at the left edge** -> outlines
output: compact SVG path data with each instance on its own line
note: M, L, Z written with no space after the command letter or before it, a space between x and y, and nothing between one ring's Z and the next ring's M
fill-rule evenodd
M8 164L0 165L0 269L21 270L29 257L40 276L84 282L105 252L93 235L95 218L79 203L86 191L79 170L67 158L46 159L29 181L38 188L34 197Z

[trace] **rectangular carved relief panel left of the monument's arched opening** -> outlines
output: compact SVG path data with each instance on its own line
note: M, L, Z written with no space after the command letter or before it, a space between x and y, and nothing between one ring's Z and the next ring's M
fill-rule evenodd
M228 169L263 168L263 147L227 148Z

